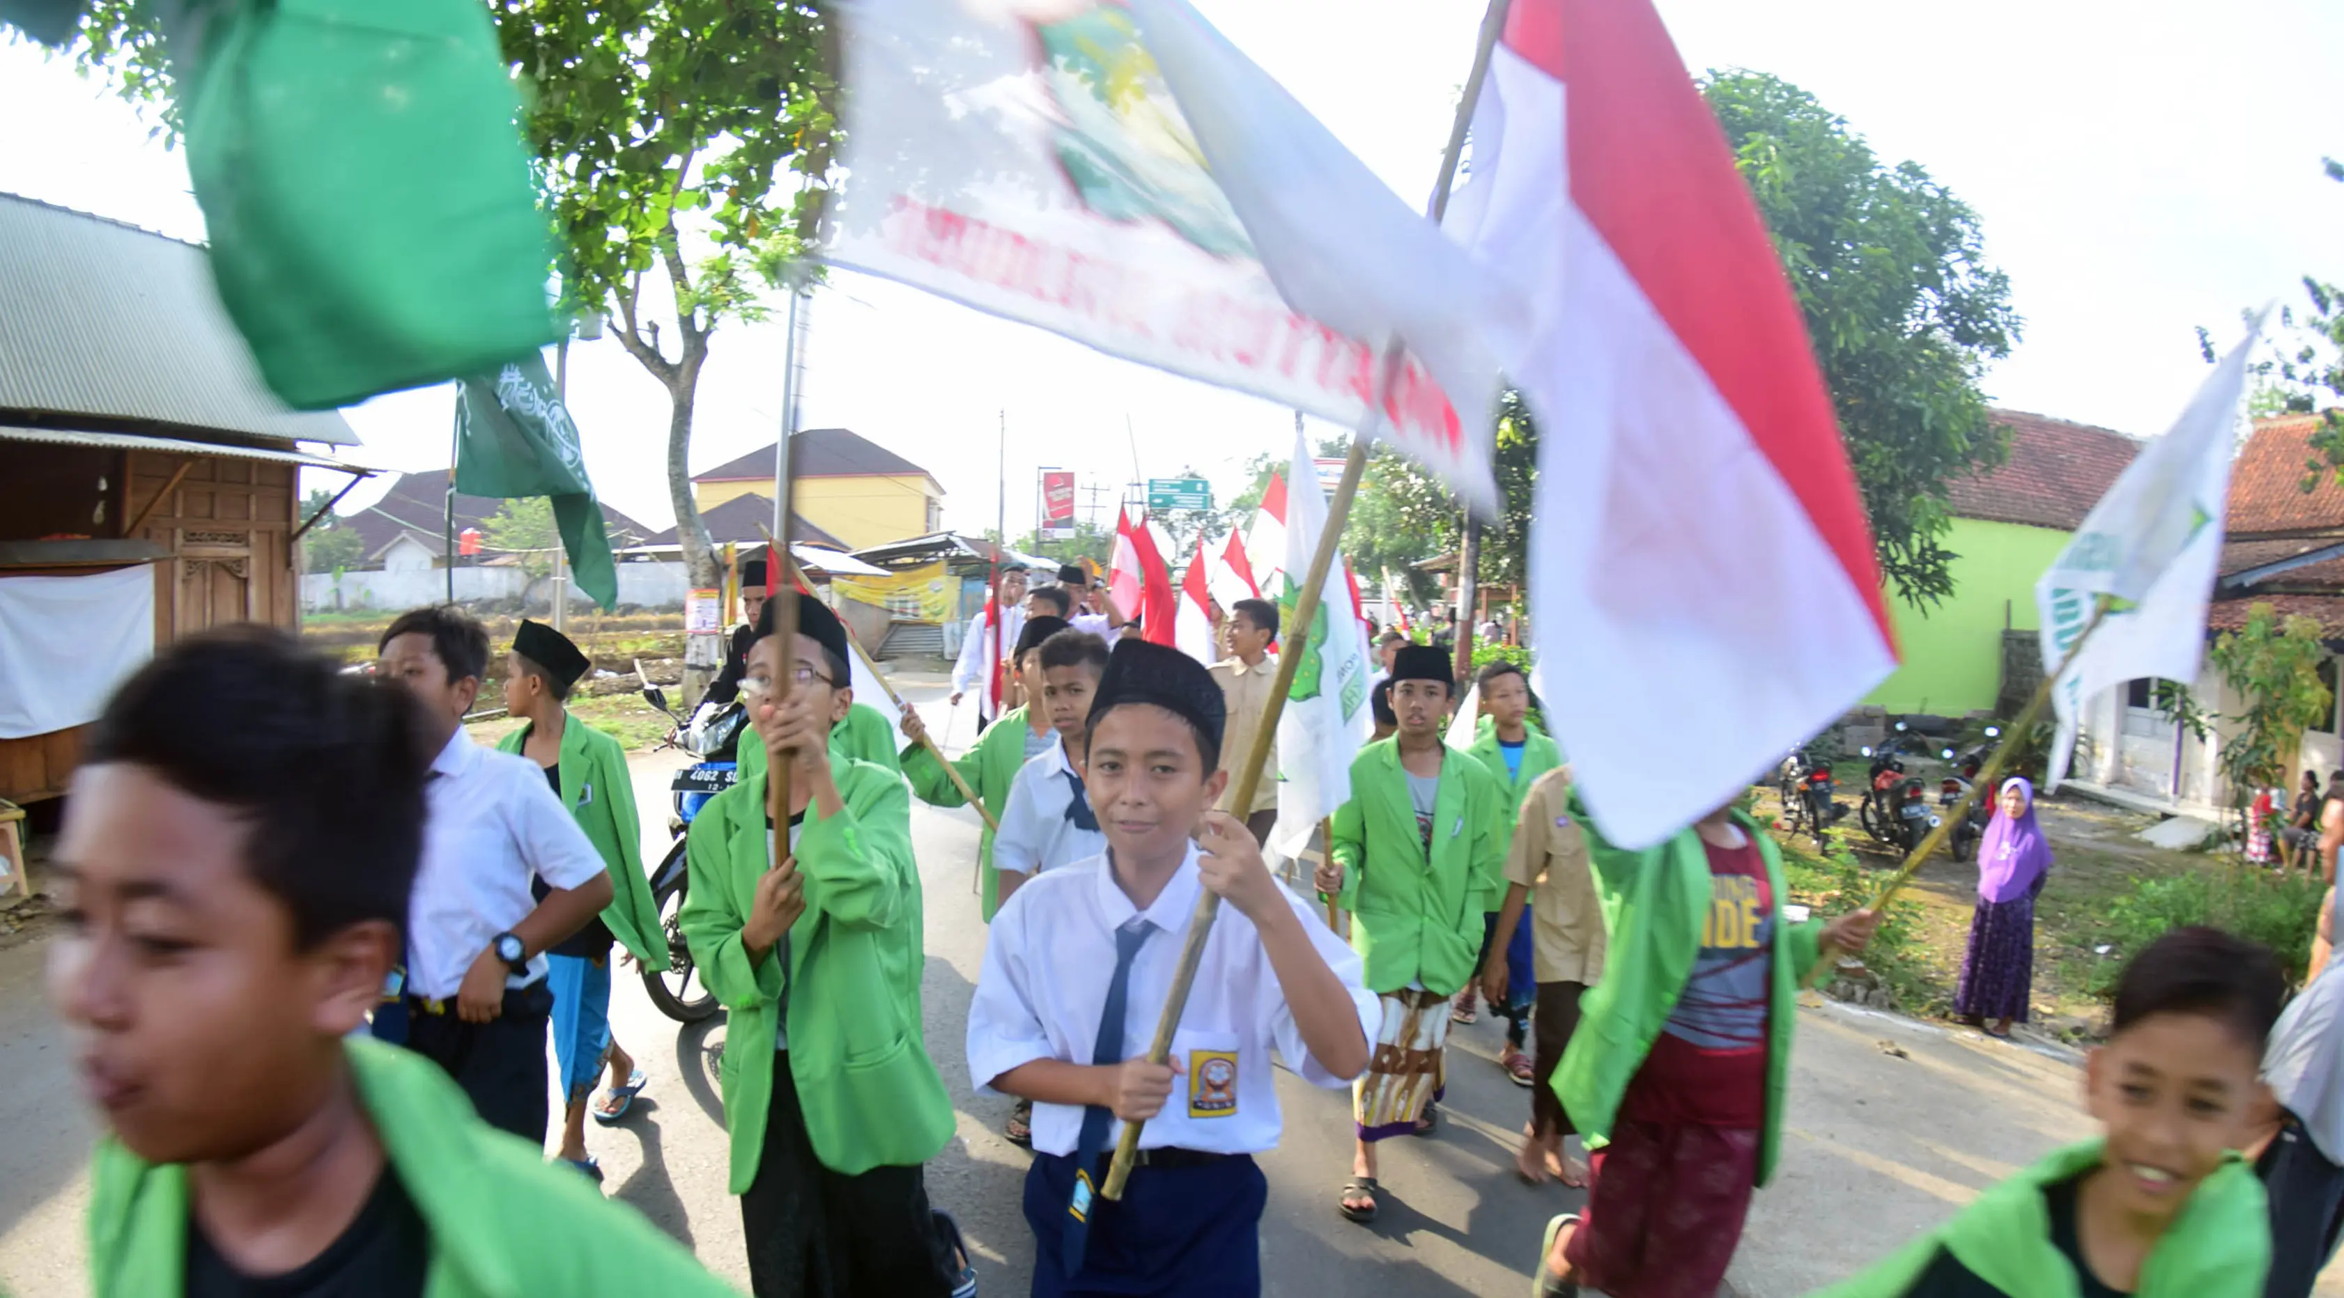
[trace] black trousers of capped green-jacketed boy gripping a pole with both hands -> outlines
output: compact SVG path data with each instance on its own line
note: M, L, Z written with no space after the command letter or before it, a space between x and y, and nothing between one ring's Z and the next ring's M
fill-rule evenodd
M774 1052L774 1108L741 1232L757 1298L949 1298L956 1279L919 1167L841 1176L813 1157L785 1050Z

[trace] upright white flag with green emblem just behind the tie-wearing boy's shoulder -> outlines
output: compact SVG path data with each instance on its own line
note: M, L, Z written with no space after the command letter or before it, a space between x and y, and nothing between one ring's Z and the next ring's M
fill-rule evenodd
M1327 530L1327 494L1310 471L1310 445L1294 433L1294 469L1287 473L1287 574L1277 595L1282 654L1301 654L1294 689L1277 715L1277 829L1270 846L1301 855L1317 822L1350 801L1350 761L1376 733L1367 705L1367 635L1350 612L1350 583L1341 565L1327 567L1317 614L1294 626L1301 579Z

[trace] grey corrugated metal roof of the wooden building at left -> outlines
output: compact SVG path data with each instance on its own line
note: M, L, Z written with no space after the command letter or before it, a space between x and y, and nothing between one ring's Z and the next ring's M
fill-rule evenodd
M19 194L0 194L0 410L359 445L260 382L204 248Z

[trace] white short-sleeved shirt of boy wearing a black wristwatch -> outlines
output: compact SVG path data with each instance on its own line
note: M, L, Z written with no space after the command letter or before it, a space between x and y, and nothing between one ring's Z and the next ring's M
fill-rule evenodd
M431 759L424 783L424 860L408 900L408 993L445 1000L499 932L537 909L530 879L579 888L602 853L546 785L544 766L471 743L464 726ZM546 956L506 986L546 977Z

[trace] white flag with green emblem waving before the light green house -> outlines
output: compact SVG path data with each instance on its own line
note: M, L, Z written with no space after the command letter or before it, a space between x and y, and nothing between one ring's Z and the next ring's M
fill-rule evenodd
M2044 672L2060 672L2098 600L2107 614L2051 689L2058 738L2044 792L2058 790L2074 750L2077 717L2100 691L2140 677L2194 682L2206 656L2206 600L2222 567L2231 429L2246 391L2246 354L2257 316L2199 387L2166 436L2149 443L2107 487L2067 548L2035 583Z

